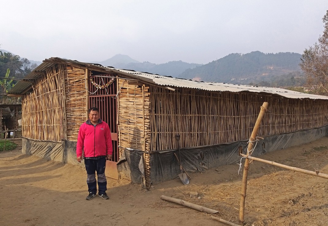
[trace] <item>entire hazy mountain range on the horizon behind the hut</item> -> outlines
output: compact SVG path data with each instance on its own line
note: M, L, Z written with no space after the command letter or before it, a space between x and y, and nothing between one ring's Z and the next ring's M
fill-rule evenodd
M279 86L277 80L283 80L281 85L304 82L299 67L300 58L301 54L298 53L274 54L254 51L247 54L232 53L204 65L181 60L155 64L148 61L139 62L130 56L117 54L107 60L90 63L197 81ZM37 65L41 63L30 61Z

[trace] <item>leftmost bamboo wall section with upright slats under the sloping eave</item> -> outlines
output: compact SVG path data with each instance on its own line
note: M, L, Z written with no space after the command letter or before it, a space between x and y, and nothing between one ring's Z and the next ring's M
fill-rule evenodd
M33 92L22 98L23 136L31 139L66 139L64 116L64 68L55 65L33 84Z

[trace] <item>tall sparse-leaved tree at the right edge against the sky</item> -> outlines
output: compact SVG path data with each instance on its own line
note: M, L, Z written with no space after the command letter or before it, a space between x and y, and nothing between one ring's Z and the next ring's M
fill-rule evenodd
M328 10L322 21L325 24L323 35L313 47L304 50L299 66L306 75L309 90L328 96Z

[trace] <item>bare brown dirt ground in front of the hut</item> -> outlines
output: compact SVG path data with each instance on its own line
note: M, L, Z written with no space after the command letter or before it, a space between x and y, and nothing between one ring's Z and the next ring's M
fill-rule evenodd
M260 158L328 174L328 137ZM86 172L79 166L47 161L21 151L0 152L0 225L226 225L210 214L161 195L218 210L215 217L238 224L242 172L237 164L190 173L149 191L129 181L108 179L109 200L90 201ZM250 165L245 223L327 225L328 180L260 162Z

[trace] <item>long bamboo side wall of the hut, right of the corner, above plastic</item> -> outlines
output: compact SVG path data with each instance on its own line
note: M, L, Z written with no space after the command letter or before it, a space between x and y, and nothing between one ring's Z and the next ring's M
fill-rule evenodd
M248 139L260 107L269 103L258 135L272 135L328 124L328 101L278 98L252 93L209 92L150 87L150 150L213 145Z

